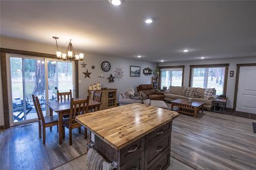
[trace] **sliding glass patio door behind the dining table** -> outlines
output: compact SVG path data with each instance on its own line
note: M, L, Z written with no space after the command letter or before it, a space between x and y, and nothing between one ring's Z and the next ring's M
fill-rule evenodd
M45 102L57 100L57 90L73 89L73 62L10 55L9 63L11 125L37 119L32 94L38 96L44 116L49 116Z

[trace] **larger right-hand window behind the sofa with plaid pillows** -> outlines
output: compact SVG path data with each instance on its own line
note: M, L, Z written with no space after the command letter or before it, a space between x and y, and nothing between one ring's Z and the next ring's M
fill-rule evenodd
M190 66L190 87L215 88L216 94L224 94L226 87L226 69L228 66Z

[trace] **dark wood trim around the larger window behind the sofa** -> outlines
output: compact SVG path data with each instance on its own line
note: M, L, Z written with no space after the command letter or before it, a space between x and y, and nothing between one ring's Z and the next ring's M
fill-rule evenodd
M228 78L228 67L229 64L202 64L202 65L189 65L189 87L192 86L193 79L193 68L212 68L212 67L225 67L223 94L227 94L227 78Z

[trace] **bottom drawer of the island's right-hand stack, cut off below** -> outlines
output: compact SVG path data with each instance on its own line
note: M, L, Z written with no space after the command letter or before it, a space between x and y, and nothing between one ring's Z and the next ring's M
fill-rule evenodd
M165 170L170 165L170 149L164 152L159 159L156 160L150 167L146 168L148 170Z

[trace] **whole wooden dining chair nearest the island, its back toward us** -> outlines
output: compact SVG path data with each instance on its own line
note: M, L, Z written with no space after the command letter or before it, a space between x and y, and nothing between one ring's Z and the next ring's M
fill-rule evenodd
M71 98L69 118L63 121L63 126L69 129L69 145L72 145L72 130L76 128L81 128L82 126L78 122L76 122L75 120L76 116L80 114L88 113L88 108L89 108L89 96L87 96L87 99L76 100L76 101L74 101L74 98ZM81 130L79 129L79 133L80 132ZM63 128L63 133L65 134L65 128ZM85 139L87 138L86 128L84 128L84 138Z

